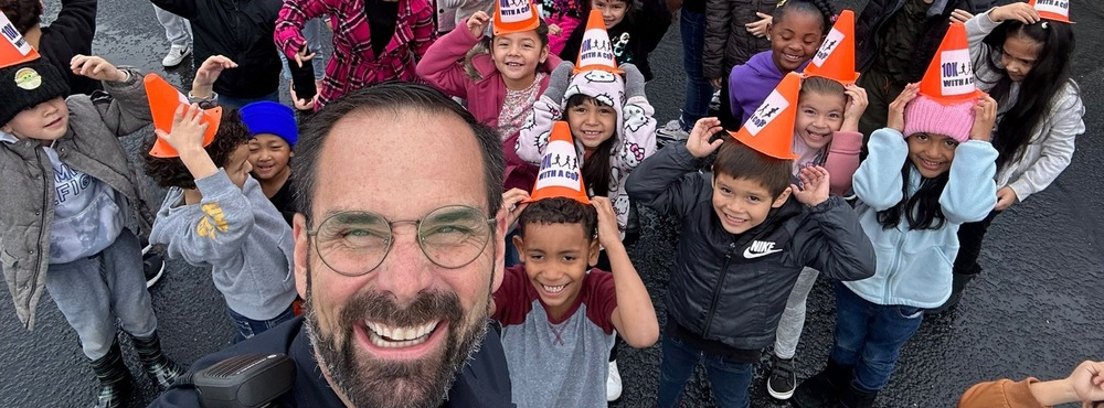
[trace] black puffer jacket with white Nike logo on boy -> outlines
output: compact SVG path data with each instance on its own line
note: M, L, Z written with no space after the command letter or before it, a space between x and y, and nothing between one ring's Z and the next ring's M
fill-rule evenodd
M667 289L667 312L701 339L742 350L774 342L786 299L805 266L827 277L874 275L874 249L839 196L807 207L790 197L740 235L712 205L712 175L696 172L684 146L660 150L628 178L633 202L682 219Z

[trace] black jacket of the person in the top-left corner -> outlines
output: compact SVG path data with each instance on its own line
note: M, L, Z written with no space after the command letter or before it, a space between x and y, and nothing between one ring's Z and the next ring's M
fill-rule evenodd
M62 0L57 19L42 28L39 53L65 73L70 79L70 95L103 89L99 80L76 75L70 69L74 55L93 55L92 37L96 33L96 0Z

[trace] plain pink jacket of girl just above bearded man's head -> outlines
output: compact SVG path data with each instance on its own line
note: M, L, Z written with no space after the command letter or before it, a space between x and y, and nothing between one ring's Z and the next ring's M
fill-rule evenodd
M488 54L479 54L471 58L471 65L479 72L481 79L473 79L464 72L464 54L481 40L471 36L466 26L467 20L431 45L417 64L416 72L423 80L445 94L467 99L468 110L476 120L497 129L498 115L502 101L506 100L506 83ZM556 65L560 65L560 57L550 53L538 69L552 72ZM548 86L549 76L544 76L538 95L543 94ZM505 189L518 187L530 191L537 182L537 167L518 158L513 149L517 141L518 133L502 135L502 152L506 153Z

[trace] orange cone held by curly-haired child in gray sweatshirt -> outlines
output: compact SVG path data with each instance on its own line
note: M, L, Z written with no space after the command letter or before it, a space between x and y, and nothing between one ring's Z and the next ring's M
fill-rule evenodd
M153 116L153 128L166 133L172 131L172 116L180 105L188 105L188 98L176 87L164 82L164 78L157 74L147 74L144 78L146 86L146 98L149 99L149 111ZM216 106L203 112L203 122L208 124L208 129L203 133L203 147L214 141L214 133L219 131L219 124L222 122L222 107ZM153 141L153 148L149 150L149 155L155 158L176 158L180 153L168 142L158 138Z

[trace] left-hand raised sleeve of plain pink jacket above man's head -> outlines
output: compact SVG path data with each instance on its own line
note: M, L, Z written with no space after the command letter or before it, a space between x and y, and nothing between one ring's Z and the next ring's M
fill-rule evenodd
M464 54L479 43L480 39L471 36L465 19L445 36L431 44L422 61L417 63L417 76L440 92L458 98L467 98L468 84L471 78L464 72Z

